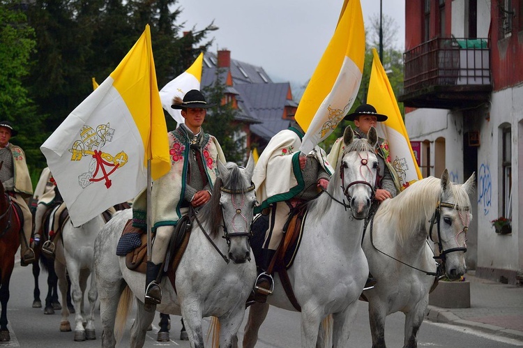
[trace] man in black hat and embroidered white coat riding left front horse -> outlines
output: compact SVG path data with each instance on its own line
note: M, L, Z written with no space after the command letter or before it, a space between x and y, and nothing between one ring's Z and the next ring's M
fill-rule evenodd
M153 182L152 231L156 232L151 261L147 262L145 303L161 303L162 290L159 280L169 239L177 222L190 208L199 209L211 199L213 184L218 172L218 162L225 163L225 156L218 140L204 133L207 109L203 94L192 89L183 100L175 97L171 107L181 109L185 123L168 133L171 170ZM146 227L146 195L142 192L132 205L133 226Z

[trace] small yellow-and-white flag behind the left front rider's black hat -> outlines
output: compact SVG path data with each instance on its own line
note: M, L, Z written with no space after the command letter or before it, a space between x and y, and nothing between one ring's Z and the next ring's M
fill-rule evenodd
M199 90L200 82L202 82L203 61L204 54L200 53L190 68L185 70L185 72L166 84L160 90L160 99L162 100L163 108L169 112L174 121L178 123L184 123L185 119L181 116L181 110L173 109L171 107L172 100L175 96L178 96L183 100L185 93L191 89Z

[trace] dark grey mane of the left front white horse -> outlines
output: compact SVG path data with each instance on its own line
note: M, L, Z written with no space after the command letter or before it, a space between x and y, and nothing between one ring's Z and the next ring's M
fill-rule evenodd
M250 186L236 163L227 162L225 168L227 168L227 174L225 176L222 174L216 178L211 199L207 204L202 206L202 209L200 209L198 213L198 218L200 222L202 222L202 225L207 224L209 226L209 236L211 236L211 238L218 236L220 233L218 227L223 225L222 208L220 206L220 195L222 192L220 189L246 190Z

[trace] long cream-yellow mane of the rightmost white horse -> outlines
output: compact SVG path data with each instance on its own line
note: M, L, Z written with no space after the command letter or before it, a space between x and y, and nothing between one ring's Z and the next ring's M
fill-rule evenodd
M470 207L469 195L462 185L449 183L448 187L460 211ZM441 179L429 176L416 181L396 197L381 202L376 216L384 217L384 221L394 226L398 242L404 245L432 218L441 194Z

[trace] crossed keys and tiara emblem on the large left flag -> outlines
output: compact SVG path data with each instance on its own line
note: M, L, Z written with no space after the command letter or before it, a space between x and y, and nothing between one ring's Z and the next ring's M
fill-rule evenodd
M114 128L109 126L109 122L98 125L96 130L87 125L80 129L80 139L75 141L69 152L72 161L91 156L89 171L78 176L78 184L82 188L98 181L105 181L105 187L110 188L112 181L109 176L128 162L127 153L124 151L120 151L116 156L102 151L103 146L111 142L113 136Z

